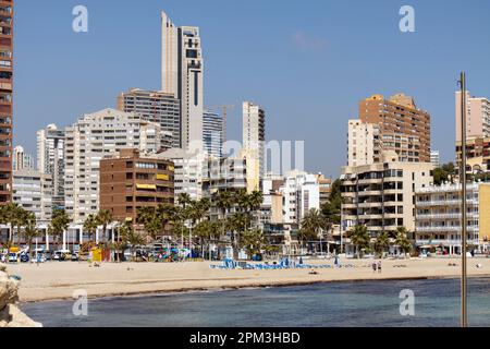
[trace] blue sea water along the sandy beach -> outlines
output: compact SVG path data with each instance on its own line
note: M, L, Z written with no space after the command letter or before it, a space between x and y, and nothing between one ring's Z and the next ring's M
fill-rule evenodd
M402 290L414 315L401 315ZM418 327L458 326L460 280L329 282L309 286L88 300L87 316L70 301L26 303L46 327ZM490 326L490 279L468 286L470 326Z

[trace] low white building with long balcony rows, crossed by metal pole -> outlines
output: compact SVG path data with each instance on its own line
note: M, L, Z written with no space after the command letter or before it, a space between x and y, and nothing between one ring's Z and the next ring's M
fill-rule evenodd
M470 250L488 250L490 238L490 184L468 183L467 241ZM416 192L416 244L439 248L449 254L461 253L462 184L426 186ZM442 251L441 251L442 252Z

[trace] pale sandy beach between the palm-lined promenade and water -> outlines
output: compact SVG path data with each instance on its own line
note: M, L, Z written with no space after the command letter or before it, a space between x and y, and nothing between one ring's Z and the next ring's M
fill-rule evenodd
M305 261L308 264L333 264L333 261ZM373 273L371 261L347 261L354 268L280 270L211 269L208 262L195 263L106 263L89 267L85 262L50 262L37 265L9 265L11 275L22 277L21 302L71 299L74 291L86 290L89 298L150 294L246 287L274 287L313 282L376 279L419 279L457 277L457 258L383 261L382 273ZM449 266L455 263L457 266ZM219 263L212 263L219 264ZM477 268L481 264L481 268ZM401 267L402 266L402 267ZM468 260L469 276L489 276L489 258Z

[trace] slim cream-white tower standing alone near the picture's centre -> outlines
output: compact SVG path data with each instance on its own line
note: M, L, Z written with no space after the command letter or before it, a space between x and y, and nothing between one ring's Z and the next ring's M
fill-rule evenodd
M247 159L248 191L258 190L266 173L266 112L250 101L243 103L243 155Z

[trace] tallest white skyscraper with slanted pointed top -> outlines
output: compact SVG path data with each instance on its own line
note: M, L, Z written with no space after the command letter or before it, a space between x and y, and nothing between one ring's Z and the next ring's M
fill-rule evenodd
M199 28L161 13L161 89L181 100L182 148L203 148L204 62Z

